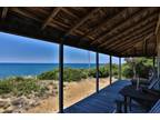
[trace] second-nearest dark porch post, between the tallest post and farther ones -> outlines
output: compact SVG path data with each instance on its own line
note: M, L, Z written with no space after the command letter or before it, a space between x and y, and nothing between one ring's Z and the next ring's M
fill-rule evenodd
M96 81L96 91L99 92L99 53L96 53L96 64L97 64L97 81Z

